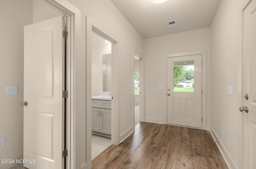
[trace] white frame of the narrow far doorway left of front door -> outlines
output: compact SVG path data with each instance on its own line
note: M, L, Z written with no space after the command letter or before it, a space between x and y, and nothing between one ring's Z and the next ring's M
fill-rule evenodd
M140 122L144 122L144 59L142 57L140 57L140 55L136 54L134 52L134 50L132 50L132 91L134 92L134 57L138 57L139 58L139 71L140 71L140 100L139 100L139 104L140 104L140 117L139 120ZM135 130L135 98L134 98L134 94L132 97L132 105L133 105L133 126L134 126L134 130Z

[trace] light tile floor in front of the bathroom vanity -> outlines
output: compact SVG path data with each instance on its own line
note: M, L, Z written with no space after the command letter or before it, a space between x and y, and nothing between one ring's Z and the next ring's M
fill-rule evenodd
M111 145L111 138L92 134L92 159Z

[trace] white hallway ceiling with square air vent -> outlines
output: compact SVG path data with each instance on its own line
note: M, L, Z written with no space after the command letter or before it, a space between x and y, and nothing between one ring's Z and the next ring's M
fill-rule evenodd
M144 37L156 37L210 27L221 0L111 0L132 26ZM168 21L177 26L168 28Z

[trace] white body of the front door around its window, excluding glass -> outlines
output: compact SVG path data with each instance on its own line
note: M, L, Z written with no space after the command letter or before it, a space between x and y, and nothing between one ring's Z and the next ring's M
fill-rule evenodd
M194 61L194 92L174 92L174 63ZM202 55L167 57L167 124L202 128Z

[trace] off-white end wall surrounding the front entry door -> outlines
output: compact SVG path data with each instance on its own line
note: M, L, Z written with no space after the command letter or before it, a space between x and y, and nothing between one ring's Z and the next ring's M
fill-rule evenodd
M207 51L207 85L210 85L210 28L144 39L145 121L166 124L163 106L166 101L163 93L166 91L158 90L158 86L164 85L164 55L192 51ZM209 95L210 90L207 89L207 97ZM207 104L210 104L208 98ZM209 113L207 109L207 114L210 116Z

